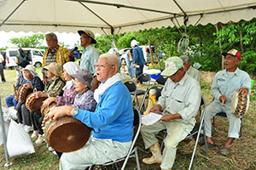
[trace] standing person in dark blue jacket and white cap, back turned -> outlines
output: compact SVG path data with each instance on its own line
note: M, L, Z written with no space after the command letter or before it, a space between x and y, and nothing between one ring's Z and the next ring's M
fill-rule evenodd
M143 55L143 49L139 48L137 46L138 42L136 40L131 41L131 47L132 49L132 56L133 56L133 67L136 68L136 77L139 77L141 74L143 74L143 67L146 64L146 61L144 59ZM141 80L138 80L139 86L143 83Z

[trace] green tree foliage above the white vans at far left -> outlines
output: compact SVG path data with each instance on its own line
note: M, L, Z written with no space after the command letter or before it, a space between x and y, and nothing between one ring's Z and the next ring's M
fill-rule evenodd
M14 37L10 42L18 48L39 48L42 47L44 34L33 34L32 36Z

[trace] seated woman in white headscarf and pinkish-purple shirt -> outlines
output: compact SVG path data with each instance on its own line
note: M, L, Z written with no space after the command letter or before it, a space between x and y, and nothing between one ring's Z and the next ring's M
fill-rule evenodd
M66 81L66 85L62 90L64 91L63 96L57 95L56 97L50 97L44 100L44 105L49 106L52 102L57 103L57 105L73 105L73 100L78 94L75 90L74 79L71 75L79 71L80 68L74 62L67 62L63 65L63 77Z

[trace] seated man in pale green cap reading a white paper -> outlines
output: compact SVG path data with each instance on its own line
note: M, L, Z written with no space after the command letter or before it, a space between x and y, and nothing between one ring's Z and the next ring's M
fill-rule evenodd
M172 168L176 157L177 144L185 139L195 126L195 116L201 103L199 83L183 69L183 60L178 57L166 59L166 69L162 76L169 77L161 92L156 107L151 112L162 112L160 122L142 127L145 148L149 147L152 156L143 163L161 163L162 170ZM160 144L155 134L166 129L165 149L161 156Z

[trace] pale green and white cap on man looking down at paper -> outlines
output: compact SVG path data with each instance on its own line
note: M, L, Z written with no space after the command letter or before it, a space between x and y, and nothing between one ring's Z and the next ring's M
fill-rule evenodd
M161 73L164 77L171 77L178 69L183 68L183 59L180 59L179 57L170 57L166 59L166 68Z

